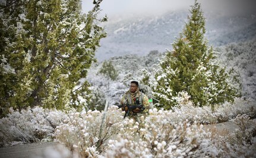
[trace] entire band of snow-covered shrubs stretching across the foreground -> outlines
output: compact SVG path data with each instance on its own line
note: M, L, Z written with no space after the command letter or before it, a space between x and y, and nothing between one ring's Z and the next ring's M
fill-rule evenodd
M235 99L233 104L226 102L212 112L211 107L191 107L189 96L183 93L182 97L177 98L179 108L150 109L148 117L141 117L144 122L141 125L132 119L124 120L124 112L118 107L109 107L102 136L99 136L103 117L100 111L65 114L38 107L20 112L11 110L8 117L0 120L0 140L7 144L56 138L72 154L82 157L237 157L254 154L256 126L255 120L249 118L255 118L255 101ZM226 136L214 130L204 131L200 125L232 118L239 130ZM99 148L98 143L101 144Z

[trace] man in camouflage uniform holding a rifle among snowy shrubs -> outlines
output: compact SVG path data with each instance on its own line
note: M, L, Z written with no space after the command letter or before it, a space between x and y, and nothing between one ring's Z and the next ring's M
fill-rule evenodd
M121 105L123 111L128 111L127 108L125 108L125 105L143 105L145 108L143 111L141 111L140 108L135 108L132 111L129 111L128 117L134 118L135 121L141 122L140 117L142 115L148 114L148 109L150 108L148 98L146 95L144 95L143 92L140 92L138 89L138 82L133 80L131 82L131 85L129 86L129 91L125 92L124 96L122 96L121 99Z

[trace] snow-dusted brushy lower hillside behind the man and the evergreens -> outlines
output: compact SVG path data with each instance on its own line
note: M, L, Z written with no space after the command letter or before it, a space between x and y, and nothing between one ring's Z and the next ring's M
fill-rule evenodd
M256 99L256 41L227 44L216 47L215 50L219 54L220 64L226 66L227 70L235 69L235 72L239 74L242 95L246 98ZM93 85L94 95L96 93L98 99L101 100L100 106L105 105L106 99L110 104L118 105L121 96L128 89L130 80L140 80L143 75L143 69L150 72L151 77L154 78L154 73L162 56L163 53L159 51L150 51L146 56L127 54L111 57L107 61L111 61L115 69L118 70L117 80L110 80L99 73L102 62L94 63L89 71L87 80Z

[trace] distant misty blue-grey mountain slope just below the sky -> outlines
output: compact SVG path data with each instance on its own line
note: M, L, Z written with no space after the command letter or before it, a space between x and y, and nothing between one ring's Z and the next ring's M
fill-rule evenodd
M171 43L184 28L188 11L167 12L156 17L129 17L109 20L108 33L96 52L100 61L113 56L138 54L145 56L151 50L164 52L172 49ZM206 12L206 38L209 44L223 46L227 43L255 39L256 13L248 15L216 15Z

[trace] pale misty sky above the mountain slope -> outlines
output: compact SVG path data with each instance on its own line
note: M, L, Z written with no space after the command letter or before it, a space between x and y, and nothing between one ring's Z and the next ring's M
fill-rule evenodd
M83 12L92 8L93 0L82 0ZM221 12L223 14L256 13L255 0L199 0L203 11ZM109 18L118 15L162 14L178 9L190 9L194 0L103 0L100 8L102 14Z

